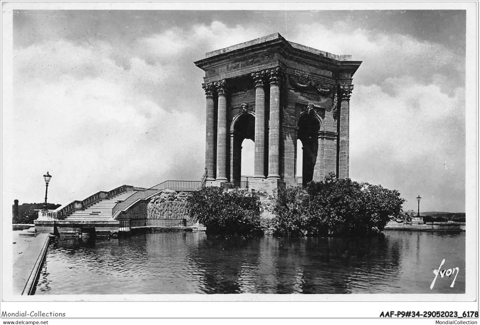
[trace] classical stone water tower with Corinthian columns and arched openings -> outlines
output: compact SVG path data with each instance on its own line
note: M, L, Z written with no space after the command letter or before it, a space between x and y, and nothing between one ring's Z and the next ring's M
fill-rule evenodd
M205 71L207 182L240 181L241 143L252 139L249 187L296 184L297 139L303 184L330 172L348 177L349 100L360 61L292 43L280 34L208 52Z

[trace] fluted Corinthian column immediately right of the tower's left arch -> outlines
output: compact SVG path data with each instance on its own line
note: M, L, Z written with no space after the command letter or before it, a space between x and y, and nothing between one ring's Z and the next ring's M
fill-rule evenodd
M265 71L252 73L255 83L254 178L265 178Z

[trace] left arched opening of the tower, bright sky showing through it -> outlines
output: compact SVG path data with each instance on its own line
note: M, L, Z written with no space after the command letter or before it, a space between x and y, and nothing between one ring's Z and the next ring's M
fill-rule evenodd
M240 182L241 175L253 175L255 117L252 113L243 113L232 124L230 182Z

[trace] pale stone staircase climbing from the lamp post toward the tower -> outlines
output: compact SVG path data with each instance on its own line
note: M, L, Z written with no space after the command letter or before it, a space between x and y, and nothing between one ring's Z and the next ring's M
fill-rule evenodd
M100 200L84 210L77 210L68 215L67 221L106 221L112 220L112 209L118 202L123 202L136 190L129 190L120 193L110 199Z

